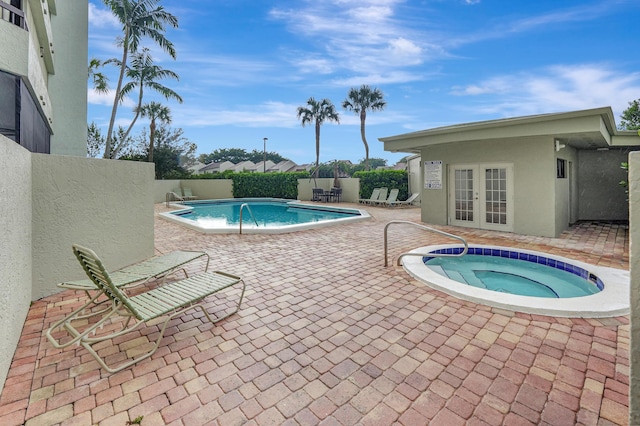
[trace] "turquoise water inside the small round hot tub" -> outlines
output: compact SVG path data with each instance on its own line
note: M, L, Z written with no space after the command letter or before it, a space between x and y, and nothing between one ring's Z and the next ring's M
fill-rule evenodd
M463 284L521 296L569 298L602 290L593 274L564 262L515 251L478 250L480 253L470 249L471 254L462 257L426 257L424 261L438 274Z

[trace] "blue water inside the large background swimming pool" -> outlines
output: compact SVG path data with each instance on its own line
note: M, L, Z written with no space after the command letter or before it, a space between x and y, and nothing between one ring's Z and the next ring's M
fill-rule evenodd
M240 224L240 206L243 203L248 204L251 213L253 213L252 217L246 208L243 209L242 226L248 228L255 228L256 222L258 228L271 228L311 224L361 215L360 211L355 209L306 205L273 199L268 201L239 199L184 202L182 204L188 209L171 214L193 221L204 228L237 228Z

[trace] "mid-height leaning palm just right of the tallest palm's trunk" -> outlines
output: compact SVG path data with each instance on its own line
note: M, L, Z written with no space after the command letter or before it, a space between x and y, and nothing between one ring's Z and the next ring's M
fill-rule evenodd
M133 116L133 120L127 131L125 132L125 139L129 136L131 129L133 129L133 125L138 120L140 116L140 110L142 107L142 97L144 94L144 88L149 87L156 92L160 93L165 99L176 99L179 103L182 103L182 97L178 95L175 91L169 89L166 86L158 83L156 80L163 79L166 77L179 79L178 74L174 73L170 70L165 70L158 65L153 64L153 58L151 58L151 54L149 53L149 49L144 48L141 52L138 52L132 56L131 59L131 67L127 67L127 77L131 79L130 82L122 86L120 89L120 98L124 99L129 93L131 93L136 87L138 88L138 103L134 108L135 115ZM112 155L118 153L120 147L112 147Z

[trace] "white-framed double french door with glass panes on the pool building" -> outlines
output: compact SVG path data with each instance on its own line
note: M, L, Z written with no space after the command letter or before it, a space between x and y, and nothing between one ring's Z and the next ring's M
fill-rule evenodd
M449 168L449 223L513 231L513 166L461 164Z

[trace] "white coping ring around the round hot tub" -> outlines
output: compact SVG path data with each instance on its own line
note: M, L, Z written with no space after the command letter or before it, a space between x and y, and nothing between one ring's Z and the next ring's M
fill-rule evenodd
M429 257L429 252L454 247L461 247L461 245L431 245L411 250L410 253L423 254L425 257ZM554 259L565 264L575 265L596 275L602 281L604 288L596 294L563 299L520 296L477 288L444 277L429 269L422 260L423 256L405 256L402 259L403 267L409 275L431 288L450 294L459 299L510 311L567 318L607 318L628 315L630 312L629 271L591 265L562 256L516 247L480 244L470 244L469 247L509 250L512 252L515 251L529 255L542 256L547 259ZM496 295L499 296L500 300L495 300Z

